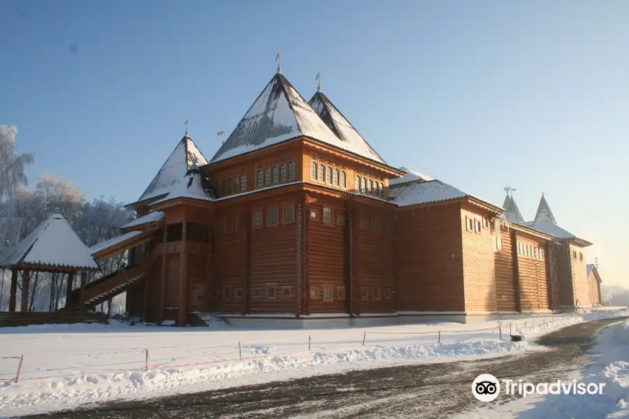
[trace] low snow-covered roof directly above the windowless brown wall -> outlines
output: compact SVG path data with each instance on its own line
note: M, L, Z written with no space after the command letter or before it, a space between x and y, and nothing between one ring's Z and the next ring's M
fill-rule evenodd
M391 202L400 207L436 203L466 196L471 195L437 179L389 189Z

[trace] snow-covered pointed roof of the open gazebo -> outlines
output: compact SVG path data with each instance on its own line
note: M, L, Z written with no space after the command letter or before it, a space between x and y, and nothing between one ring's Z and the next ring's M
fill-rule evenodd
M95 270L99 267L87 246L58 212L31 231L0 263L4 267L24 265L73 270Z

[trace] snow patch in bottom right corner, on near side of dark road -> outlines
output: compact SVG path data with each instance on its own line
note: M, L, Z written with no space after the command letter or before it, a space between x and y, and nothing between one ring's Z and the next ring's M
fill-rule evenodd
M628 347L629 320L603 330L591 351L593 364L568 377L586 385L604 384L601 395L528 395L514 402L465 413L461 419L629 418ZM503 390L500 391L502 394Z

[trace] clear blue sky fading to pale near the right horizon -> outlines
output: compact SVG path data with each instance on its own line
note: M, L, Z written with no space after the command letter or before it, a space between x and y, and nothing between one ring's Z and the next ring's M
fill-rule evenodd
M275 73L391 166L558 223L629 284L626 1L0 2L0 124L28 175L136 200L190 131L210 158ZM71 45L76 45L71 51Z

